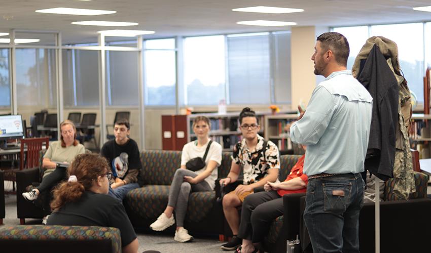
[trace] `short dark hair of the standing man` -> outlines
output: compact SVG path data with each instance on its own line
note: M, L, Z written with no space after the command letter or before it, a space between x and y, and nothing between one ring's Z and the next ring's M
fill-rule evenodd
M337 63L347 66L350 48L347 38L344 37L343 34L338 32L325 32L317 37L317 41L320 41L322 52L331 50Z

